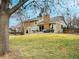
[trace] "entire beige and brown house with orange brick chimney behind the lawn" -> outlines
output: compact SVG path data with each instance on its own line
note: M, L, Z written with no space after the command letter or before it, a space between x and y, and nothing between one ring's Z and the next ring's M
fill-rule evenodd
M63 32L63 27L66 27L63 16L46 19L43 20L42 17L38 17L23 21L24 33L42 32L44 29L53 29L54 33L61 33ZM19 30L21 29L19 28Z

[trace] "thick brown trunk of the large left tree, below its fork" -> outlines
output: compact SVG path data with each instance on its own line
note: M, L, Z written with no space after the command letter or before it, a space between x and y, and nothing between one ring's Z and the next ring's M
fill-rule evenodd
M9 26L9 15L2 11L0 12L0 55L4 55L9 51L8 26Z

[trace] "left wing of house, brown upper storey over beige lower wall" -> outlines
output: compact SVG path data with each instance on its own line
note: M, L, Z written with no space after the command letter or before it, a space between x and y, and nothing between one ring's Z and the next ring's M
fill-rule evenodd
M37 19L29 19L29 20L25 20L22 22L22 24L20 24L20 27L17 28L19 31L24 31L24 34L26 33L33 33L33 32L37 32L39 30L38 26L37 26Z

